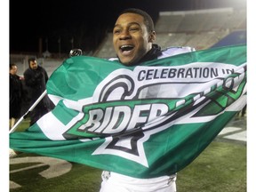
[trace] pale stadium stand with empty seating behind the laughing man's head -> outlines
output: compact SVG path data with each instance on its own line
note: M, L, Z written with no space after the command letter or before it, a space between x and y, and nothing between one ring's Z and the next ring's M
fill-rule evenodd
M245 9L159 12L159 18L156 20L156 44L163 49L168 46L192 46L196 50L203 50L241 30L246 31ZM94 56L106 59L116 56L110 33Z

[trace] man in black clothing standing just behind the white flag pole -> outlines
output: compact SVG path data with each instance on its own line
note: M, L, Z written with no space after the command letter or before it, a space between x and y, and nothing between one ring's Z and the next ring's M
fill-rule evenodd
M39 66L36 62L36 58L28 59L28 68L24 72L25 84L28 87L29 106L31 107L36 100L46 90L46 82L48 81L48 75L45 69ZM35 124L36 121L44 116L53 108L52 100L47 95L36 105L29 116L30 126Z

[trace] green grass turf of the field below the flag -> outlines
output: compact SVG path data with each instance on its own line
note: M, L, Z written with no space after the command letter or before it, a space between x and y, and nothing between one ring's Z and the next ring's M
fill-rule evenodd
M20 124L19 131L28 127ZM37 156L21 154L21 156ZM11 164L10 170L33 164ZM72 164L70 172L52 179L38 173L47 165L22 172L10 173L10 180L20 184L11 192L97 192L100 189L101 170L83 164ZM57 170L58 171L58 170ZM196 160L178 172L178 192L243 192L246 191L246 146L237 143L213 141Z

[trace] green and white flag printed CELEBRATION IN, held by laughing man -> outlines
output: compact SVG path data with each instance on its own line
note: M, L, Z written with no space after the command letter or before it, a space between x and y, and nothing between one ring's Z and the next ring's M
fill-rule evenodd
M137 178L179 172L246 103L246 45L140 66L76 56L47 83L56 107L10 148Z

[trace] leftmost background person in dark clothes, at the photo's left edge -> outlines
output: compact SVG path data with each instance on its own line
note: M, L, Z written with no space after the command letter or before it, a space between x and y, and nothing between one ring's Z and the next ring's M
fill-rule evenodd
M22 102L22 76L17 75L17 65L10 64L9 70L9 129L15 124L16 119L20 117Z

